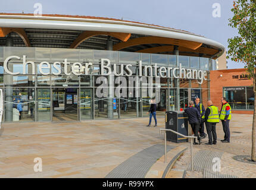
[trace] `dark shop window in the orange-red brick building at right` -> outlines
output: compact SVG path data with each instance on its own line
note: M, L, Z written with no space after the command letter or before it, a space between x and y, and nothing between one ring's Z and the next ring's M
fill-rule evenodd
M223 97L226 97L231 109L254 109L253 87L223 87Z

